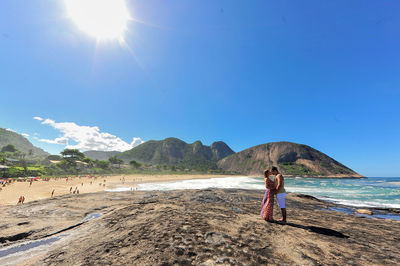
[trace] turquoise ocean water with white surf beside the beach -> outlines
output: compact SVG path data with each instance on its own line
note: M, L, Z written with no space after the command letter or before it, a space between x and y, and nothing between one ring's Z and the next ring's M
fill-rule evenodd
M205 188L241 188L264 190L262 177L225 177L139 184L137 190L175 190ZM400 177L365 179L285 178L288 192L366 208L400 208ZM119 191L122 191L121 189Z

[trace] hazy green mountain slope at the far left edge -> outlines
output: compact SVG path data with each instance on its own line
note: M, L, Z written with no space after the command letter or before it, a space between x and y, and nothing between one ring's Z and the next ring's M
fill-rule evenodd
M26 158L44 158L50 155L44 150L33 146L33 144L22 135L0 128L0 149L8 144L14 145L17 150L25 153Z

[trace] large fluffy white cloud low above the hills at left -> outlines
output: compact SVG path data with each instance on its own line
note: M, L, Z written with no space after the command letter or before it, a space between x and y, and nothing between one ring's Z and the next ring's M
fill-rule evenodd
M38 119L36 119L38 120ZM43 120L43 119L42 119ZM97 150L97 151L126 151L143 143L140 138L133 138L129 144L115 135L107 132L101 132L99 127L80 126L74 122L57 123L51 119L44 119L43 125L49 125L59 130L62 135L56 139L38 139L39 141L50 144L65 145L68 149L79 149L81 151ZM70 145L70 141L74 141L76 145Z

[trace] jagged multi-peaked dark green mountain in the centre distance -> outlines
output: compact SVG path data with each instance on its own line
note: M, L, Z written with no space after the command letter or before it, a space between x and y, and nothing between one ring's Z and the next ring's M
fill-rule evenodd
M222 141L205 146L200 141L188 144L177 138L150 140L120 153L117 157L141 163L168 164L186 168L215 169L216 162L234 151Z

